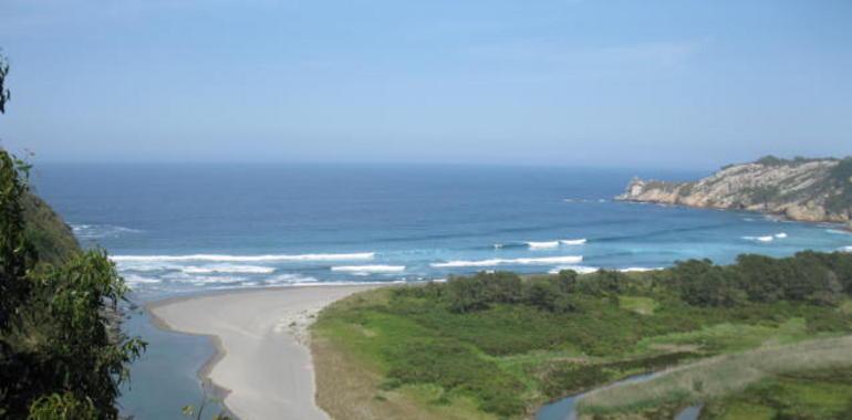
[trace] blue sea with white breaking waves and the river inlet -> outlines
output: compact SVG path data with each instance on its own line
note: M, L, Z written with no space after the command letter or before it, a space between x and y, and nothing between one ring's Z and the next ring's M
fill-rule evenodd
M252 287L446 281L487 270L641 271L741 253L852 250L832 224L614 201L633 176L710 170L355 164L44 164L37 192L132 287L124 330L148 349L121 398L135 419L198 405L206 337L144 305ZM215 412L207 408L206 418Z

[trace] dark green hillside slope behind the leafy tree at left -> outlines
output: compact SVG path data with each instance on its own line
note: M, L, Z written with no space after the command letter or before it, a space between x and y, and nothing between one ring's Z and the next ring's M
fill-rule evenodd
M44 200L27 192L21 200L27 238L35 248L39 262L60 265L80 252L74 232Z

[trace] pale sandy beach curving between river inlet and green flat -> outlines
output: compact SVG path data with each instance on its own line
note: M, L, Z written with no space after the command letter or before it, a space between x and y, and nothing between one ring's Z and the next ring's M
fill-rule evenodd
M148 306L164 327L211 336L201 376L227 390L241 420L328 419L314 402L306 327L325 305L375 286L266 288L167 300Z

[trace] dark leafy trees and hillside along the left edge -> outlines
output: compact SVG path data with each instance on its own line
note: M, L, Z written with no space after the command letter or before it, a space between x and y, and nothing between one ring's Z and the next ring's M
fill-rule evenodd
M0 112L8 99L0 57ZM0 150L0 418L115 419L127 365L145 348L110 334L127 292L102 250L80 252Z

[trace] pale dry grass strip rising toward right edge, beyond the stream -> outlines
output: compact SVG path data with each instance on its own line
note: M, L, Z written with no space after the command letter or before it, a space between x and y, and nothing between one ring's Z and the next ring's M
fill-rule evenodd
M666 405L688 406L734 395L765 379L850 367L852 336L772 345L672 368L642 384L592 391L580 400L579 409L600 417ZM813 386L810 391L810 397L803 393L800 398L810 398L815 405L820 399L831 398Z

